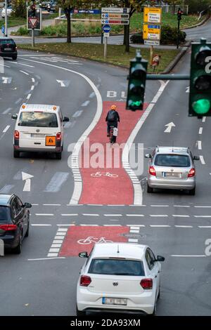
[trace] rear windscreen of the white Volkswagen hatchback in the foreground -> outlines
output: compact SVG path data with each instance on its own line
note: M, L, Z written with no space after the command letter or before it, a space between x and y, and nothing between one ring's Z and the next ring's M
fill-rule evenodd
M144 276L143 263L139 260L93 259L89 273L104 275Z

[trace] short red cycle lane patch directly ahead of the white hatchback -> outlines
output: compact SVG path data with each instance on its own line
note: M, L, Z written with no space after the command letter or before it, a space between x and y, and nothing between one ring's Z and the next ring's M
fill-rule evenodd
M60 249L59 256L78 256L79 252L90 253L96 242L128 242L124 234L129 227L113 226L71 226Z

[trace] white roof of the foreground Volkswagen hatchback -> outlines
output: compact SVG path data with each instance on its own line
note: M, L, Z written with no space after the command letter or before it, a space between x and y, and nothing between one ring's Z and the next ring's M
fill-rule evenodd
M146 245L122 242L96 243L92 258L129 258L143 260L143 255L147 247Z

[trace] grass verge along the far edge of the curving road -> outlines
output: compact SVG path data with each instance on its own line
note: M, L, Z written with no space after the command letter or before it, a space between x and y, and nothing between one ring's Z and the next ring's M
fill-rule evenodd
M104 46L101 44L36 44L34 48L28 44L20 44L18 48L32 51L44 51L47 53L56 53L70 56L77 56L87 58L89 60L98 60L100 62L107 62L113 65L122 65L129 67L129 60L136 55L136 48L130 47L130 52L125 53L124 46L108 45L108 55L106 60L103 57ZM163 72L165 68L174 60L179 53L177 49L156 49L154 53L161 55L160 65L156 72ZM148 48L141 49L141 55L146 60L150 58L150 51ZM153 72L153 69L148 66L148 72Z

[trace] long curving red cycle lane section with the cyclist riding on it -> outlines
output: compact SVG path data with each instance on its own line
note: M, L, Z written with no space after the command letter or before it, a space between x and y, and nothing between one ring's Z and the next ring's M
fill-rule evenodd
M117 105L120 124L117 143L111 146L106 136L106 114L113 104ZM146 107L145 104L144 108ZM101 119L82 146L80 172L83 189L79 204L133 204L134 189L127 172L122 167L123 148L119 146L127 143L143 113L144 111L125 110L124 102L103 102ZM120 161L115 162L117 159ZM94 168L96 165L98 167Z

